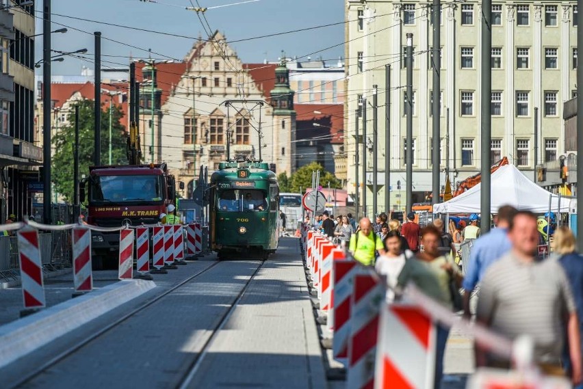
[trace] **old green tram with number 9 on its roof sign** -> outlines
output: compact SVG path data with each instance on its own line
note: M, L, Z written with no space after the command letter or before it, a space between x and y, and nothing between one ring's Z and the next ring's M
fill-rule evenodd
M279 187L268 163L222 162L210 181L211 249L267 259L278 244Z

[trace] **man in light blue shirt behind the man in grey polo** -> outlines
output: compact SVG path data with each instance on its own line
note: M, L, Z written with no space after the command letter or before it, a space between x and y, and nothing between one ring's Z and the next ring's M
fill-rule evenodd
M471 316L469 298L476 285L482 280L486 269L512 248L512 243L508 239L508 226L516 213L517 209L513 206L501 206L498 209L496 228L476 239L471 246L469 261L464 262L466 268L462 284L464 317Z

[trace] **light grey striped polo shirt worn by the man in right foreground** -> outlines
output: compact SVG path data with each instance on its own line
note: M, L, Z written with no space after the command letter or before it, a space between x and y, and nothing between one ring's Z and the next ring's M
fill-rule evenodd
M510 252L487 269L480 284L478 319L510 339L529 335L537 362L560 360L565 312L575 312L575 303L556 260L526 263Z

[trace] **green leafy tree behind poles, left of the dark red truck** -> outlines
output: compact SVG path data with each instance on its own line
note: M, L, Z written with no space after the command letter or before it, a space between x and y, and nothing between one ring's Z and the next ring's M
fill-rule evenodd
M89 174L89 166L94 165L94 102L79 101L79 178ZM126 135L120 123L123 113L120 107L112 109L112 164L126 165ZM51 180L57 193L66 201L73 202L73 151L75 144L75 111L68 113L67 125L53 136ZM109 164L109 107L101 111L101 164Z

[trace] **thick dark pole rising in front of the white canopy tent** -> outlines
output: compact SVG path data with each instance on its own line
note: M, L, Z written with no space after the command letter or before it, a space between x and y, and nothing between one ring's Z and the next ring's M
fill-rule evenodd
M492 1L482 1L482 144L481 148L481 175L480 183L480 230L485 234L490 230L490 206L491 206L491 172L492 165L490 148L492 139Z

